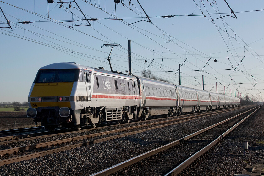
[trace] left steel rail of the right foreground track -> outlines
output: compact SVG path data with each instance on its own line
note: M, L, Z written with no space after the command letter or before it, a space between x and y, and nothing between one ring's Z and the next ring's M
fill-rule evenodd
M255 108L253 108L253 109L256 109L256 108L257 108L257 107L255 107ZM249 111L251 111L251 110L252 110L252 109L247 110L247 111L245 111L245 112L243 112L243 113L240 113L240 114L238 114L238 115L235 115L235 116L233 116L233 117L231 117L231 118L228 118L228 119L226 119L226 120L223 120L223 121L221 121L221 122L218 122L217 124L211 125L211 126L209 126L209 127L206 127L206 128L204 128L204 129L201 129L201 130L199 130L199 131L197 131L197 132L195 132L195 133L192 133L192 134L187 135L187 136L185 136L185 137L183 137L183 138L180 138L179 140L173 141L173 142L171 142L171 143L168 143L168 144L166 144L166 145L164 145L164 146L158 147L158 148L153 149L153 150L151 150L151 151L147 151L147 152L145 152L145 153L143 153L143 154L140 154L140 155L138 155L138 156L135 156L135 157L133 157L133 158L130 158L130 159L124 161L124 162L121 162L121 163L119 163L119 164L116 164L116 165L114 165L114 166L112 166L112 167L110 167L110 168L104 169L104 170L102 170L102 171L100 171L100 172L94 173L94 174L92 174L92 175L90 175L90 176L108 176L108 175L111 175L111 174L113 174L113 173L116 173L116 172L118 172L118 171L120 171L120 170L122 170L122 169L124 169L124 168L129 167L130 165L133 165L133 164L135 164L135 163L137 163L137 162L139 162L139 161L141 161L141 160L143 160L143 159L146 159L146 158L151 157L151 156L153 156L153 155L156 155L156 154L158 154L158 153L160 153L160 152L162 152L162 151L165 151L165 150L167 150L167 149L169 149L169 148L171 148L171 147L173 147L173 146L176 146L176 145L178 145L178 144L180 144L180 143L183 143L185 140L188 140L188 139L190 139L190 138L192 138L192 137L194 137L194 136L196 136L196 135L199 135L199 134L201 134L201 133L203 133L203 132L205 132L205 131L207 131L207 130L209 130L209 129L212 129L212 128L214 128L214 127L220 125L220 124L223 124L223 123L225 123L225 122L227 122L227 121L229 121L229 120L231 120L231 119L233 119L233 118L236 118L236 117L238 117L238 116L240 116L240 115L243 115L243 114L245 114L245 113L247 113L247 112L249 112ZM255 112L255 111L254 111L254 112Z

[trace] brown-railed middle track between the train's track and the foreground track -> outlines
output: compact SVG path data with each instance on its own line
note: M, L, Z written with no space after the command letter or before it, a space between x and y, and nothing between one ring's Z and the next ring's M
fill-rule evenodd
M232 111L233 109L230 109ZM226 112L226 111L225 111ZM213 112L215 113L215 112ZM218 113L224 113L224 112L218 112ZM210 113L211 114L211 113ZM154 122L150 124L143 124L133 127L127 127L123 129L117 129L112 131L106 131L96 134L89 134L89 135L82 135L78 137L63 139L63 140L56 140L56 141L50 141L45 142L41 144L33 144L33 145L27 145L22 147L15 147L10 149L5 149L0 151L1 161L0 165L9 164L12 162L22 161L30 158L40 157L51 153L56 153L63 150L69 150L72 148L85 146L93 143L99 143L105 140L111 140L120 138L126 135L132 135L135 133L141 133L146 130L151 130L155 128L161 128L168 125L176 124L176 123L182 123L184 121L193 120L196 118L201 118L204 116L209 116L209 113L203 114L203 116L197 117L195 116L189 116L184 118L178 118L178 119L170 119L162 122ZM91 129L89 129L91 130ZM70 133L70 132L68 132ZM116 133L122 133L115 135ZM58 135L58 134L57 134ZM28 138L27 140L29 140ZM22 140L22 139L20 139ZM24 139L23 139L24 140ZM10 142L10 141L3 141L3 142ZM2 144L3 144L2 142ZM30 151L26 151L30 150ZM19 156L18 156L19 155Z

